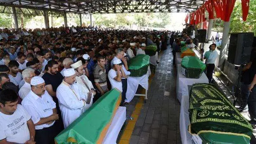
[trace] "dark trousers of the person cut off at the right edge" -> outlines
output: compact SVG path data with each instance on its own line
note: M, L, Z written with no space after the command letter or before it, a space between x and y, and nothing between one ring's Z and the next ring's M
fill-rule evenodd
M256 85L254 85L254 88L251 91L247 104L251 120L256 120Z

